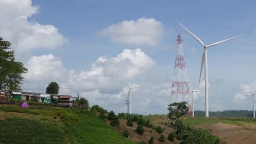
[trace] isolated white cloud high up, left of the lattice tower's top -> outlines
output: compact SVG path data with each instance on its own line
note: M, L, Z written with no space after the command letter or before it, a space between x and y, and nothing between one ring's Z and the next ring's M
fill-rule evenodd
M144 17L112 24L101 31L101 35L110 37L115 43L134 45L156 45L162 34L160 21Z

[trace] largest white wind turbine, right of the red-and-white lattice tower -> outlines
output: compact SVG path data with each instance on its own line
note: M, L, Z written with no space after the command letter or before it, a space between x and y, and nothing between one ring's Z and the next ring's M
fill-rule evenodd
M181 25L178 22L179 25ZM195 36L194 34L192 34L192 32L190 32L186 27L184 27L183 25L181 25L181 27L183 27L192 37L195 38L195 40L197 40L201 45L203 45L204 48L204 52L203 52L203 56L202 56L202 62L201 62L201 70L200 70L200 77L199 77L199 83L200 84L200 79L201 79L201 74L202 74L202 69L203 69L203 63L205 62L205 117L209 117L209 107L208 107L208 64L207 64L207 48L211 47L211 46L215 46L215 45L219 45L221 43L227 42L229 40L235 39L237 37L241 37L243 35L239 35L237 37L232 37L229 38L227 40L221 40L219 42L213 43L211 45L205 45L202 40L200 40L197 36Z

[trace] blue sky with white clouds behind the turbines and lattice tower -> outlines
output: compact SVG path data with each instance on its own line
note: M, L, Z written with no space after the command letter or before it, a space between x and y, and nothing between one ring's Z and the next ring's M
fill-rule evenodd
M247 0L0 0L0 37L11 42L28 72L24 91L45 92L54 75L60 94L84 97L90 106L126 112L167 114L181 33L189 85L198 86L203 48L208 48L209 110L251 110L256 85L256 2ZM204 74L203 74L204 75ZM202 77L201 80L204 80ZM201 81L200 83L203 83ZM204 91L195 110L205 109Z

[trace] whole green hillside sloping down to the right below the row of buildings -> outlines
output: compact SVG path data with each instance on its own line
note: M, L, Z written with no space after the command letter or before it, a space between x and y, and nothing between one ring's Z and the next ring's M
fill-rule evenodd
M0 107L0 143L131 144L90 111Z

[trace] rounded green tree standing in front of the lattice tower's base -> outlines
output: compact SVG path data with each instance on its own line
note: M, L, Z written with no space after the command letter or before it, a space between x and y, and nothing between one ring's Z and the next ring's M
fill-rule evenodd
M187 107L187 102L175 102L168 105L168 117L171 119L173 116L176 117L176 121L179 121L179 118L183 115L186 115L189 111L189 107Z

